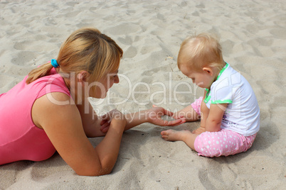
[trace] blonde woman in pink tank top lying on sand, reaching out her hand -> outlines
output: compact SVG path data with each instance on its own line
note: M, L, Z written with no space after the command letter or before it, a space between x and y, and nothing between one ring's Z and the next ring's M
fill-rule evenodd
M119 82L122 53L115 41L99 30L76 30L60 47L56 60L33 69L1 94L0 164L46 160L57 151L79 175L109 174L124 130L144 122L184 123L184 119L161 120L160 116L173 114L163 108L132 117L113 110L105 120L96 115L88 97L105 98L108 89ZM142 114L146 117L139 117ZM103 135L105 138L92 147L88 137Z

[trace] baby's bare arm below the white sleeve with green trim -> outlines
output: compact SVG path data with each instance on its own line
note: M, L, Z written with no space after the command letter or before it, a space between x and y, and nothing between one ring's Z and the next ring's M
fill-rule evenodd
M206 118L206 131L216 132L221 130L221 121L227 106L228 104L211 104Z

